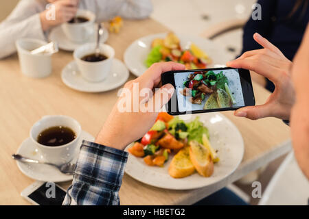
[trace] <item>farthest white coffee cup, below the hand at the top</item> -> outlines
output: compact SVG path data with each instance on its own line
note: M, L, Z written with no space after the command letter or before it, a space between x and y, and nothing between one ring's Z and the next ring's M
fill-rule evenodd
M66 22L61 25L61 28L69 40L73 42L84 42L94 34L95 14L88 10L78 10L76 17L78 16L87 18L88 21L83 23Z

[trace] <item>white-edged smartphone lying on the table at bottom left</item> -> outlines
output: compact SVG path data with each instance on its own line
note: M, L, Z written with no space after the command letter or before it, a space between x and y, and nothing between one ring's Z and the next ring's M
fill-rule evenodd
M34 205L62 205L67 192L56 183L36 181L21 192Z

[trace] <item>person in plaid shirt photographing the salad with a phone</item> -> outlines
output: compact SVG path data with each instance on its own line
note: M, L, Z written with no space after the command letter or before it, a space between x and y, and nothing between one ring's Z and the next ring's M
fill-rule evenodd
M273 81L276 89L264 105L242 107L235 115L250 119L267 116L290 119L295 157L309 179L309 25L294 64L260 34L255 34L254 39L264 49L244 53L237 60L228 62L227 66L254 70ZM124 88L134 94L133 83L138 83L139 89L154 90L160 85L162 73L183 69L185 66L179 63L156 63L137 79L128 81ZM117 101L95 142L82 142L73 182L67 190L63 205L119 205L118 192L128 158L124 149L152 127L159 110L173 93L174 87L165 84L147 101L139 100L140 106L159 103L159 109L155 112L119 112L117 106L120 100ZM161 96L165 96L165 99L160 99ZM130 101L134 99L131 95ZM230 196L230 193L225 194ZM219 201L228 199L227 196L221 196Z

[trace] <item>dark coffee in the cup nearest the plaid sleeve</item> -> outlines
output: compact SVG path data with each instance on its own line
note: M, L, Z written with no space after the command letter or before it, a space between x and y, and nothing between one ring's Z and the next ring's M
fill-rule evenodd
M68 127L55 126L38 134L38 143L46 146L60 146L73 141L76 134Z

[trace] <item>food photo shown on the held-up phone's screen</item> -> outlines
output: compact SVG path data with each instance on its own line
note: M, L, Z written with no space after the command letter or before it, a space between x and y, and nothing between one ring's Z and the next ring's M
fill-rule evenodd
M244 107L238 69L174 73L179 112Z

